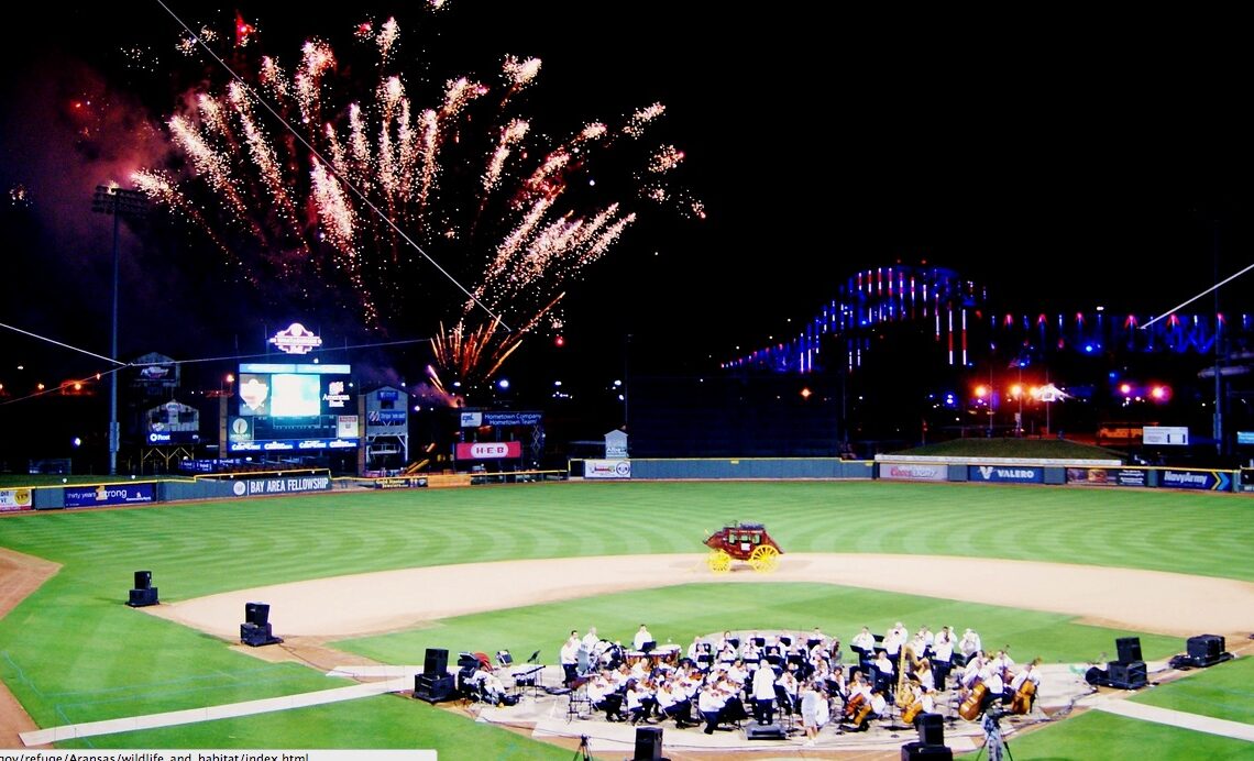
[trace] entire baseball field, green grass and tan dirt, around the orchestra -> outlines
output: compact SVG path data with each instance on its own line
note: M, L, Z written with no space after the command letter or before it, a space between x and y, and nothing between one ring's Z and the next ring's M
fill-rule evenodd
M426 648L554 663L571 629L686 643L724 629L977 629L1020 661L1082 666L1115 639L1146 661L1213 633L1238 657L1127 700L1254 723L1249 496L883 481L548 483L222 500L0 519L5 745L18 731L308 693L326 661L421 663ZM771 574L714 574L702 540L757 522ZM161 604L124 604L148 569ZM281 646L238 644L241 599ZM281 653L275 657L268 653ZM302 653L308 657L302 661ZM436 748L569 758L569 746L399 695L56 747ZM1254 758L1244 740L1073 711L1017 736L1026 758ZM810 757L815 755L811 753ZM861 756L869 757L869 756Z

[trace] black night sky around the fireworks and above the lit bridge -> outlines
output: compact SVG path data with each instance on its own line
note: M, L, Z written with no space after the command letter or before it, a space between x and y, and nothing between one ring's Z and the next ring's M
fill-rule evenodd
M528 110L554 128L661 102L658 137L685 152L682 184L705 204L703 221L656 213L628 229L569 288L564 347L529 340L510 372L612 374L628 335L646 362L709 367L791 337L849 275L898 261L956 268L1023 311L1105 303L1141 315L1251 261L1251 61L1235 19L650 0L454 1L419 20L411 5L240 11L267 50L288 55L312 34L395 14L415 78L538 56ZM233 13L145 1L55 13L14 19L0 84L0 183L23 186L29 203L3 217L0 322L103 355L113 227L92 213L92 194L163 150L148 125L177 89L127 71L118 51L173 60L174 15L194 29ZM71 105L84 97L108 108L84 118ZM339 325L267 313L203 262L122 232L122 356L228 356L260 351L263 328L292 320ZM1249 308L1250 277L1221 291L1225 308ZM69 372L100 366L40 350Z

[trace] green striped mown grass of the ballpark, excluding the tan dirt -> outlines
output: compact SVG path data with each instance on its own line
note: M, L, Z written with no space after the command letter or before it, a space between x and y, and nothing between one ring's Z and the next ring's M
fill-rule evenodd
M724 523L760 520L785 552L981 555L1254 580L1251 505L1241 495L1167 490L880 481L562 483L26 514L0 519L0 545L55 560L63 569L0 619L0 676L40 726L345 683L300 666L261 663L218 639L132 611L122 603L137 569L153 570L162 601L176 602L415 565L700 553L701 540ZM737 584L735 590L688 584L533 606L341 647L400 663L420 663L425 647L508 648L515 654L540 649L553 662L571 628L594 624L603 636L628 638L642 611L655 633L665 631L685 643L692 634L724 628L814 626L848 641L864 624L882 631L902 619L933 629L971 626L989 647L1011 643L1021 659L1038 654L1050 662L1083 662L1112 651L1114 638L1127 634L1141 637L1146 658L1183 649L1179 639L1086 627L1038 612L776 583ZM281 612L273 619L280 621ZM1208 671L1221 674L1234 666ZM1201 676L1208 680L1198 680ZM1210 716L1246 716L1236 721L1248 721L1240 706L1254 703L1248 691L1240 692L1240 681L1228 683L1209 673L1156 687L1147 697L1178 700L1172 707ZM1127 721L1086 716L1058 722L1016 741L1014 757L1124 757L1126 737L1116 742L1101 736ZM1147 752L1184 747L1180 733L1194 743L1216 740L1154 727L1145 733L1141 755L1171 757ZM1191 757L1236 757L1231 753L1246 750L1240 747L1245 743L1225 750L1231 742L1218 743L1215 756ZM569 751L554 752L395 696L78 745L436 747L441 758L569 757ZM1075 748L1096 752L1075 755Z

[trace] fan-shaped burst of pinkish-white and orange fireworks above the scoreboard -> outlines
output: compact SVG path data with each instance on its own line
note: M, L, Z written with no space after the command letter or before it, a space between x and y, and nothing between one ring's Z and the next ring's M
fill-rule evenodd
M351 308L379 333L435 332L439 372L473 385L552 323L569 281L645 206L702 216L668 188L682 152L643 144L661 104L553 138L520 113L538 59L410 84L394 19L345 33L367 65L324 40L285 64L252 24L247 46L238 34L178 45L191 58L234 39L234 78L207 66L167 120L179 162L134 179L208 232L233 280Z

